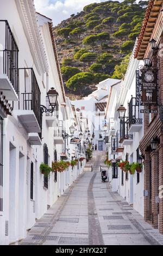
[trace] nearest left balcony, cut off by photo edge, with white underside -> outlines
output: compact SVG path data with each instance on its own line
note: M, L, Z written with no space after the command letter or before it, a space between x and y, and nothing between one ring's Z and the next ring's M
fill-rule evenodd
M18 101L18 47L8 21L0 20L0 91Z

